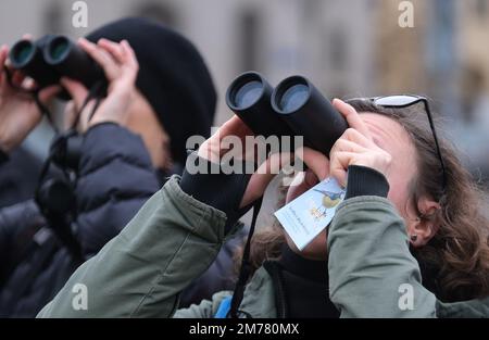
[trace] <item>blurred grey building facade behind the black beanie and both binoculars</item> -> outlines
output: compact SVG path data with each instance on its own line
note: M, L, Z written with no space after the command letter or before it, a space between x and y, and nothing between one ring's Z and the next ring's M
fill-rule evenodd
M72 26L74 2L2 0L0 40L12 43L26 32L79 37L127 15L159 20L188 36L206 59L221 95L216 124L229 116L227 85L244 71L259 71L272 84L300 73L329 97L373 89L375 1L86 0L88 28Z

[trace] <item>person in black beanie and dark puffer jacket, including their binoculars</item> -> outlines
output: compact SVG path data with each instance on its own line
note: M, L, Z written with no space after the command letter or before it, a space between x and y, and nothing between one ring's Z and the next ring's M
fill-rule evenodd
M158 47L149 48L154 40ZM188 137L209 136L216 100L209 70L190 41L154 22L118 20L78 42L24 37L1 48L0 65L5 162L49 114L54 97L70 100L63 117L70 130L62 135L70 162L55 165L76 177L68 227L83 259L95 255L168 176L181 172ZM77 142L71 154L72 140ZM0 210L2 316L35 316L78 265L59 244L38 201ZM49 237L39 243L29 235Z

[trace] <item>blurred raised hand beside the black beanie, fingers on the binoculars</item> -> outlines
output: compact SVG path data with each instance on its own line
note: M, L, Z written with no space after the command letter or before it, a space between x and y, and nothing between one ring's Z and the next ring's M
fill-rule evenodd
M108 96L90 119L95 105L92 100L77 117L84 101L88 96L88 89L82 83L68 78L62 78L61 84L70 92L73 102L68 106L68 122L71 126L78 118L78 129L84 133L89 127L104 123L114 122L125 125L129 115L130 102L136 93L136 77L139 64L134 50L126 40L120 43L100 39L98 43L86 39L78 40L79 46L103 68L109 80Z

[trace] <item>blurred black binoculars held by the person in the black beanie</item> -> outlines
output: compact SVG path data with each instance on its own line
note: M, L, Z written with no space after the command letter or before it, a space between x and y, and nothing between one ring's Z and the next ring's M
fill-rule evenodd
M98 83L102 89L106 87L103 70L65 36L20 40L12 47L9 58L13 68L33 78L39 88L58 84L63 76L83 83L88 89ZM70 99L65 92L59 97Z

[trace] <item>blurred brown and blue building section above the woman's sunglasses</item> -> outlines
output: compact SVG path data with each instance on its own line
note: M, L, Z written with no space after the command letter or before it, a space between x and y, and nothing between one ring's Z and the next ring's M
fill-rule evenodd
M380 92L421 93L446 116L457 113L457 17L454 0L413 0L414 27L399 26L401 1L378 1L376 70Z

